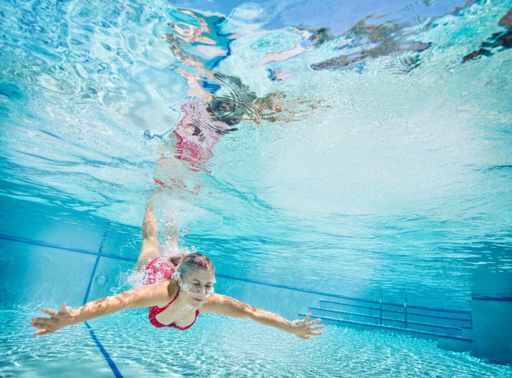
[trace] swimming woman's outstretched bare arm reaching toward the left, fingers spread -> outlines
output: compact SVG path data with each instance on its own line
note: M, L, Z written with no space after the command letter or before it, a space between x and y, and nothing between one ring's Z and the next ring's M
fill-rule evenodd
M58 311L42 308L41 311L50 315L50 318L33 318L30 325L40 328L34 332L34 336L47 335L48 333L55 332L57 329L109 315L123 308L154 306L168 296L168 281L165 280L153 285L144 285L124 293L97 299L84 304L76 310L66 306L66 303L62 303Z

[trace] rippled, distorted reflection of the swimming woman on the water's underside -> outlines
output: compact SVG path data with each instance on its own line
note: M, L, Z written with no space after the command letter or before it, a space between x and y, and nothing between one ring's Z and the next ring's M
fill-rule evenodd
M191 170L211 173L207 167L214 156L214 148L222 136L237 130L233 126L241 122L259 125L262 121L302 120L318 106L317 102L305 99L286 100L281 93L258 97L240 78L214 71L219 62L229 56L230 43L236 38L221 31L227 18L188 9L176 12L180 13L177 18L183 21L169 24L171 30L164 40L181 63L175 71L187 80L187 93L195 99L181 106L182 119L172 133L166 133L166 138L171 139L169 146L175 146L162 147L170 149L170 157L188 163ZM287 75L289 73L276 73L274 78L284 80ZM148 139L155 137L151 137L148 130L144 135ZM163 136L158 137L163 139ZM163 151L160 155L160 165L175 164L164 162L169 158L163 157ZM156 178L164 183L163 187L177 186L167 184L166 177Z

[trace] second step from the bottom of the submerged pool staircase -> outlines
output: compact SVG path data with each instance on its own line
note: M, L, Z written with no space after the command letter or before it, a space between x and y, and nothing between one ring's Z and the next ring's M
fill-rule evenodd
M394 318L388 318L384 314L387 315L387 313L383 313L382 318L380 318L379 315L369 315L369 314L361 314L361 313L355 313L355 312L349 312L349 311L343 311L343 310L335 310L331 308L322 308L322 307L316 307L316 306L310 306L309 312L314 313L320 316L326 316L331 317L335 319L340 320L351 320L356 322L364 322L364 323L373 323L383 326L391 326L396 328L407 328L407 329L414 329L419 331L425 331L425 332L434 332L434 333L442 333L444 335L451 335L451 336L460 336L462 337L462 327L454 327L454 326L447 326L447 325L440 325L440 324L433 324L433 323L425 323L425 322L418 322L413 321L409 319L407 323L406 321L402 319L394 319ZM402 314L403 315L403 314Z

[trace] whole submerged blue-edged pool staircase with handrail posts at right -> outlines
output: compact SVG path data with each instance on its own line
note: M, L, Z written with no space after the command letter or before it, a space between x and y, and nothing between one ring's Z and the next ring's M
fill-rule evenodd
M438 347L453 351L471 350L473 345L471 312L465 310L408 306L407 300L397 304L338 296L316 300L307 312L324 324L434 340Z

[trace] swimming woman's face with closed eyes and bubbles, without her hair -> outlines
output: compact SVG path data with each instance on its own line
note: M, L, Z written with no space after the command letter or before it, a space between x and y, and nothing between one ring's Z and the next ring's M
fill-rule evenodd
M214 279L214 274L207 270L188 272L180 278L180 295L183 295L187 304L199 308L214 292Z

